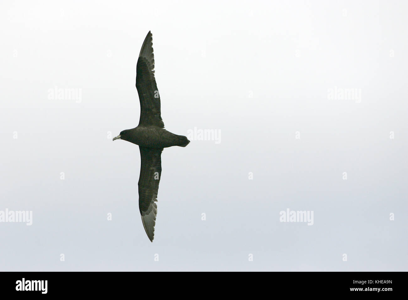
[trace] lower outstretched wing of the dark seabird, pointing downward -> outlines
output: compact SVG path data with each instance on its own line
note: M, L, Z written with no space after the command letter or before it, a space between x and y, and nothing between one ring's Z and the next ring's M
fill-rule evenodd
M139 210L144 230L153 242L157 215L157 191L162 176L163 149L140 147Z

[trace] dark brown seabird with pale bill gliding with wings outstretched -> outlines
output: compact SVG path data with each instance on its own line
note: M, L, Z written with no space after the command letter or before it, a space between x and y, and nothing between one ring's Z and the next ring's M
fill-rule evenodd
M126 129L113 140L126 140L139 145L139 210L144 230L153 242L157 214L157 191L162 175L161 155L163 148L186 147L190 142L164 129L160 116L160 96L154 78L153 38L149 31L144 39L136 66L136 88L140 100L139 125Z

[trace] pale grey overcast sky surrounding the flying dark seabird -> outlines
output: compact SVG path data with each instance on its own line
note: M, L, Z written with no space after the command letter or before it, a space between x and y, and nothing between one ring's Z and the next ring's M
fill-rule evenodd
M0 211L33 211L33 224L0 222L0 270L407 271L407 13L405 1L2 1ZM164 149L153 243L139 149L109 138L139 122L149 30L166 129L221 134ZM81 99L49 99L55 87ZM286 209L313 211L313 225L279 222Z

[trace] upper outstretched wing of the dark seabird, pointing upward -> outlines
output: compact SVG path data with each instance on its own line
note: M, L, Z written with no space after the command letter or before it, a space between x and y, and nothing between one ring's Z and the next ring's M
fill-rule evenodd
M144 39L136 66L136 88L140 100L139 126L164 128L160 116L160 96L154 78L153 38L149 31Z

